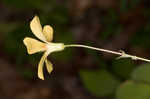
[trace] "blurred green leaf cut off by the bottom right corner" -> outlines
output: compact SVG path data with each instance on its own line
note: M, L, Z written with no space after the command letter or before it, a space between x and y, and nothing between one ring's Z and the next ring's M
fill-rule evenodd
M116 99L150 99L150 85L127 81L117 89Z

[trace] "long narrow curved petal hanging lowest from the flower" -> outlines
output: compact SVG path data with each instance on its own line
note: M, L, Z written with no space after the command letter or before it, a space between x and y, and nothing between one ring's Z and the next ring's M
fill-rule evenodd
M44 61L47 58L48 54L45 52L44 55L42 56L39 65L38 65L38 77L42 80L44 80L44 75L43 75L43 66L44 66Z

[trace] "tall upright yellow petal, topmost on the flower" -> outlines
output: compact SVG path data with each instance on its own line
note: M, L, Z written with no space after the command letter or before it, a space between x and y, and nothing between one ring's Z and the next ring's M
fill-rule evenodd
M30 23L30 28L33 32L33 34L39 38L40 40L46 42L46 38L45 36L43 35L43 31L42 31L42 26L41 26L41 23L40 23L40 20L39 20L39 17L38 16L35 16L33 18L33 20L31 21Z

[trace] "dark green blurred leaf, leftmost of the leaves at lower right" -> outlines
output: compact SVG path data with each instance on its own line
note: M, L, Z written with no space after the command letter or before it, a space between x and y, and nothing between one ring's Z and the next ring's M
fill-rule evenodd
M80 71L85 88L95 96L108 96L115 92L119 81L108 71Z

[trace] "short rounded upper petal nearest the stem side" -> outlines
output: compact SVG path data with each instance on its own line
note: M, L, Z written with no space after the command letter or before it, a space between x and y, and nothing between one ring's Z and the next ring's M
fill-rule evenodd
M47 41L53 40L53 28L50 25L45 25L43 28L43 34Z

